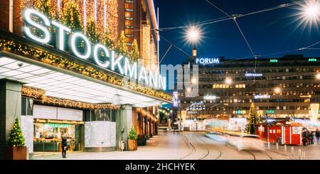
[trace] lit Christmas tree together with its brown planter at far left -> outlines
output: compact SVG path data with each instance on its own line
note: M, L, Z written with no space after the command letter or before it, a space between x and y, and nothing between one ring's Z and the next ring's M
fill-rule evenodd
M14 127L11 130L8 148L6 151L6 159L8 160L26 160L27 148L24 146L25 140L21 131L19 120L14 121Z

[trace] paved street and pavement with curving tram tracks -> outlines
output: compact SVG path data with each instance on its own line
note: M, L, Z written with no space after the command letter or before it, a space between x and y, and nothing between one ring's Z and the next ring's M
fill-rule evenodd
M319 159L320 146L294 146L295 155L291 156L291 147L279 146L277 153L275 146L270 151L238 151L225 146L224 143L207 138L203 133L161 132L150 138L147 146L139 146L138 151L112 151L106 153L70 153L67 160L291 160L298 158L298 151L306 151L306 159ZM35 160L62 159L60 153L36 153Z

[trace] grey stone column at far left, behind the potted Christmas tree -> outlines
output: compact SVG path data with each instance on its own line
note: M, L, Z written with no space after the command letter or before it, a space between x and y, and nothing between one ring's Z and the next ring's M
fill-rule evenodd
M21 84L0 80L0 159L6 158L6 143L14 119L21 119Z

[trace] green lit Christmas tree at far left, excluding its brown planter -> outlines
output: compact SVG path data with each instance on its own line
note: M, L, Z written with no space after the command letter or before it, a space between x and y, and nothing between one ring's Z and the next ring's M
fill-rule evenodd
M24 138L23 138L23 134L22 134L18 119L14 121L14 127L11 130L8 144L9 146L18 146L18 147L24 146Z

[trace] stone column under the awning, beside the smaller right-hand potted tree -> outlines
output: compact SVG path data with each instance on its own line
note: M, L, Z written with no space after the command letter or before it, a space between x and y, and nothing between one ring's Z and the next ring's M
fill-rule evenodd
M117 118L117 144L124 141L124 150L128 149L128 136L132 125L132 105L124 104L121 106Z

